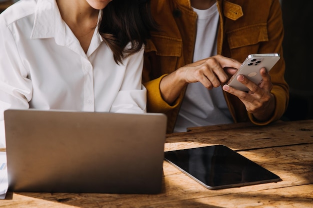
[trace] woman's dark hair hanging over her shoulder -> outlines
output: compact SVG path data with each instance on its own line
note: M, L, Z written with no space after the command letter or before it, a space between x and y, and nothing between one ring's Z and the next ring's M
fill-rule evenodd
M102 9L99 33L113 51L114 61L138 52L150 30L157 25L150 12L150 0L112 0ZM125 48L128 43L130 47Z

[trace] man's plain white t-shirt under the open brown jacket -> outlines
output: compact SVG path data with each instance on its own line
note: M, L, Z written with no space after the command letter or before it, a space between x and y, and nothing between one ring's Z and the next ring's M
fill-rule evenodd
M216 3L210 8L193 10L197 13L197 31L193 62L216 55L218 10ZM221 87L206 89L200 82L187 86L174 132L184 132L187 127L232 123Z

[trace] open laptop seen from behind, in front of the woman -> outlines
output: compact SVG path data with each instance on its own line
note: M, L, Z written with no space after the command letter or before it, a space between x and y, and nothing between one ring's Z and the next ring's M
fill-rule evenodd
M8 190L158 194L166 116L4 111Z

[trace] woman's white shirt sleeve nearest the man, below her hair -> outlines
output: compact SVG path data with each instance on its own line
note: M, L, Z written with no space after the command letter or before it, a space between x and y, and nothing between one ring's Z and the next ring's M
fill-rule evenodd
M146 112L146 88L141 84L143 48L123 60L125 67L124 78L110 112Z

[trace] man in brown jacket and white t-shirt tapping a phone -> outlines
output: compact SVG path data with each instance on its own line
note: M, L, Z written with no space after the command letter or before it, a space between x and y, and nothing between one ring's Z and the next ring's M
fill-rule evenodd
M288 103L279 0L151 0L159 31L145 46L147 111L165 113L167 133L187 127L278 120ZM248 54L280 54L262 82L224 85Z

